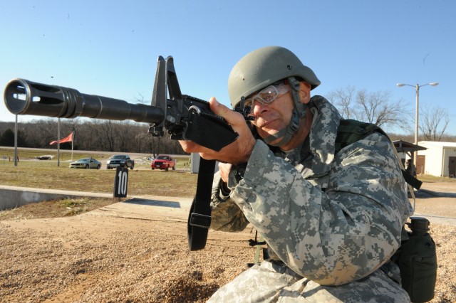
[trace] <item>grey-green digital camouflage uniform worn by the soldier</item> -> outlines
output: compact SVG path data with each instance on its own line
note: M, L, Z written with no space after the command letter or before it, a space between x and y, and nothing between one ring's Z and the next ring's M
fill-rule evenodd
M271 259L219 289L211 302L410 302L388 262L412 214L389 139L373 133L334 155L337 110L311 98L311 132L301 147L274 152L261 140L229 196L212 192L215 230L248 223ZM380 268L381 267L381 268Z

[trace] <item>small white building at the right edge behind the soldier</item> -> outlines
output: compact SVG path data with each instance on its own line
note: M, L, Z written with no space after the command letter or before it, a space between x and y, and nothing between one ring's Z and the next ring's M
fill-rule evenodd
M418 145L426 148L418 151L417 163L424 164L418 174L456 177L456 142L420 141Z

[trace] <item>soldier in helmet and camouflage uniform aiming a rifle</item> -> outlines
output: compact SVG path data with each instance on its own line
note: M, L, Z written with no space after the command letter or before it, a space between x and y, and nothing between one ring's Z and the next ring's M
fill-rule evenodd
M209 302L410 302L390 257L412 213L394 147L378 132L337 153L341 116L310 93L320 81L286 48L259 48L234 65L228 89L244 117L211 109L239 138L216 152L180 142L187 152L218 159L212 190L215 230L248 223L269 259L221 287Z

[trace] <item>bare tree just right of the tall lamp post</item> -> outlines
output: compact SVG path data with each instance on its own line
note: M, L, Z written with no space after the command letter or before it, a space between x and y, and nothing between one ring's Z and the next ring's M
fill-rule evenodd
M450 119L448 112L440 107L423 107L420 115L420 131L425 141L440 141L445 135Z

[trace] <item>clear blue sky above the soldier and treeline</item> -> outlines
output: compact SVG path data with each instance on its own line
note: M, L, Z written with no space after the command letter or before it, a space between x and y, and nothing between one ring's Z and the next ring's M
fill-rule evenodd
M420 88L420 111L445 109L456 135L455 33L452 0L1 1L0 93L24 78L150 100L157 57L172 55L182 93L229 105L234 64L284 46L321 80L314 95L350 85L387 91L414 117L415 87L396 83L439 83ZM0 121L14 120L0 102Z

